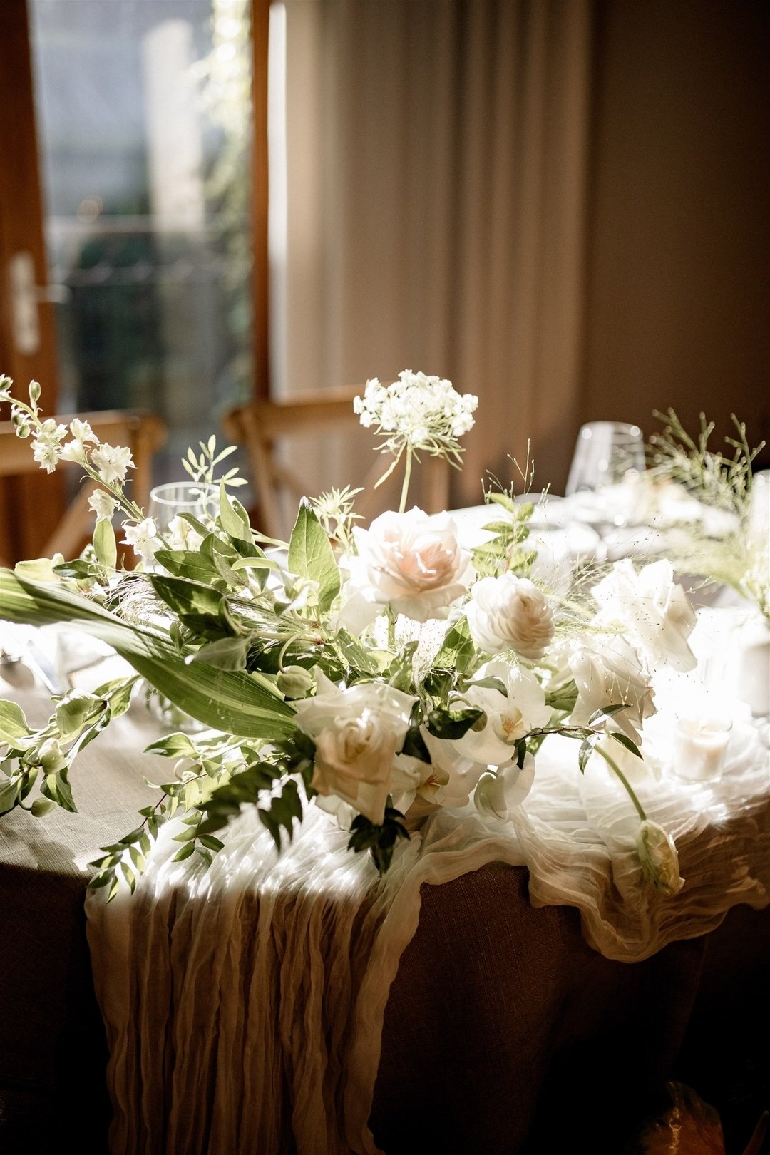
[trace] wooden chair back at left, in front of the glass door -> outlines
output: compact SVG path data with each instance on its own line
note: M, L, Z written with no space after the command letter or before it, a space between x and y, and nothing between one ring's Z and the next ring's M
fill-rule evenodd
M152 413L122 412L105 410L104 412L72 413L57 416L62 425L68 425L75 417L89 422L99 441L110 445L127 446L134 459L136 469L132 475L132 495L137 505L147 508L152 487L152 455L166 440L166 425ZM0 422L0 477L17 477L23 474L35 474L39 464L32 457L30 442L20 440L10 422ZM79 469L75 462L61 462L60 468ZM42 556L52 557L63 553L65 558L76 557L94 531L94 511L89 508L88 499L96 489L94 482L85 480L80 486L77 495L65 511L55 530L45 543ZM0 564L8 562L0 559ZM126 565L129 559L126 558Z

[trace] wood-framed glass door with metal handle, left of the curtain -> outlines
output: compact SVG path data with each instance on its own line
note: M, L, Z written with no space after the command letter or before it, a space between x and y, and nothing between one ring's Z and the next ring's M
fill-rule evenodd
M170 431L169 444L159 455L159 476L157 480L166 480L163 470L172 470L180 465L188 445L196 447L197 438L205 429L209 433L220 433L218 422L223 407L222 397L214 403L216 388L215 370L211 370L207 383L201 385L199 378L202 373L203 362L208 356L204 343L207 337L201 336L207 325L210 325L211 316L217 311L223 312L225 306L222 300L204 300L201 293L193 299L196 290L190 290L190 296L181 301L182 290L172 285L171 292L167 290L169 281L179 277L182 283L185 269L201 256L200 267L193 270L189 278L194 283L197 274L208 275L219 261L222 264L223 252L215 251L210 243L210 206L205 201L203 181L208 179L207 173L212 163L212 156L203 155L201 140L205 142L207 133L211 136L211 124L207 128L200 125L193 126L193 133L199 134L197 141L190 146L192 152L199 149L200 170L195 180L199 181L199 215L195 218L196 225L189 226L189 231L182 237L182 225L174 216L177 207L181 204L181 216L186 208L184 201L174 201L178 193L179 182L175 180L181 176L182 184L185 171L173 170L174 158L178 166L181 164L179 154L184 151L184 140L169 135L169 117L173 109L181 118L182 122L189 122L197 116L193 107L197 107L197 92L182 96L169 87L169 46L174 49L179 45L175 33L180 31L180 14L184 17L186 12L186 0L172 0L171 3L156 6L150 2L136 2L132 8L132 0L121 0L120 3L113 0L102 0L95 2L85 17L76 15L76 8L85 10L88 5L66 3L48 6L43 12L46 18L57 21L54 35L60 39L66 39L66 46L59 45L59 57L52 72L46 73L50 58L46 54L46 42L42 35L44 21L40 12L45 6L38 0L0 0L0 373L6 373L14 380L14 392L18 396L27 394L29 381L35 379L43 386L42 404L46 413L57 411L73 412L79 409L133 409L157 413L167 425ZM204 18L204 5L197 0L187 0L189 17L187 21L188 51L192 53L189 61L177 61L179 75L186 75L185 69L188 64L195 64L195 52L200 50L202 29L207 27ZM122 17L120 12L124 12ZM215 15L219 12L219 20L226 23L232 12L232 6L223 6L219 0L211 0L211 23L215 23ZM245 187L242 204L244 213L240 218L241 224L251 231L252 266L251 277L246 273L239 283L246 284L251 296L248 308L251 311L251 348L248 349L248 365L244 371L239 389L246 389L247 394L254 393L257 396L266 396L269 392L269 351L268 351L268 172L267 172L267 65L268 65L268 28L270 14L270 0L245 0L239 6L244 14L241 24L247 31L246 47L244 55L251 62L252 81L252 109L251 109L251 178L245 167L244 180L251 179L251 187ZM94 18L91 20L91 14ZM165 16L165 28L167 33L164 43L160 43L156 24ZM84 21L84 22L83 22ZM195 23L197 21L197 23ZM174 27L174 24L177 27ZM232 24L232 20L230 20ZM134 25L142 25L144 39L141 46L128 44L128 49L134 52L134 81L140 66L149 69L144 81L155 87L155 131L154 141L145 142L145 152L140 159L140 167L145 164L152 170L154 161L160 154L170 157L172 171L162 173L159 180L152 186L149 180L150 193L147 189L142 193L128 194L129 207L126 203L120 207L109 208L105 203L102 211L102 198L89 196L89 192L95 194L104 192L99 186L99 174L88 177L92 179L94 188L85 187L70 198L62 209L61 188L55 187L52 178L53 164L52 154L60 147L63 136L81 137L89 141L89 132L92 124L89 119L95 107L100 103L113 99L121 103L124 109L136 110L142 105L142 94L139 89L126 94L119 102L115 90L121 82L120 68L126 62L124 43L119 42L121 36L133 35ZM127 32L127 28L129 31ZM50 31L50 29L48 29ZM215 35L214 32L211 33ZM115 64L114 83L113 72L105 67L102 61L100 90L102 102L98 99L82 102L81 106L70 114L68 109L63 109L63 100L58 100L58 94L52 91L47 77L66 76L68 84L74 89L82 62L88 64L88 57L79 53L87 51L84 42L89 37L102 37L100 51L112 51L112 60ZM111 47L111 40L115 43ZM182 37L184 39L184 37ZM154 40L154 43L148 43ZM216 44L216 42L215 42ZM50 50L51 44L47 43ZM207 50L208 51L208 50ZM69 53L69 54L67 54ZM33 64L32 64L33 59ZM127 69L129 70L129 69ZM150 75L150 72L152 75ZM149 81L148 81L149 77ZM46 88L47 84L47 88ZM165 84L165 87L164 87ZM87 94L90 95L90 94ZM172 112L169 112L171 106ZM38 122L36 125L36 110ZM58 119L57 119L58 118ZM165 119L164 119L165 118ZM152 120L152 117L149 118ZM104 125L97 125L104 129ZM134 126L135 127L135 126ZM185 127L185 124L182 124ZM164 137L165 133L165 137ZM96 134L98 137L98 133ZM95 139L96 139L95 137ZM104 135L98 137L104 140ZM159 148L164 143L173 140L174 148ZM189 141L188 141L189 143ZM99 144L95 144L98 148ZM113 140L107 140L107 150L117 148ZM140 149L141 151L141 149ZM226 152L226 148L222 149ZM88 170L88 161L82 162L83 151L67 157L67 171L79 172ZM139 156L139 152L136 154ZM134 157L136 159L136 156ZM80 157L80 159L79 159ZM125 159L125 158L124 158ZM216 157L214 158L216 159ZM92 166L94 167L94 166ZM97 165L98 167L98 165ZM184 166L182 166L184 169ZM44 172L44 177L42 177ZM152 173L150 173L150 177ZM156 174L157 176L157 174ZM195 182L193 180L193 184ZM109 181L107 181L109 184ZM47 195L43 195L43 186ZM159 194L157 201L150 204L151 193ZM114 181L112 182L112 194L115 193ZM195 189L193 189L195 192ZM148 195L150 201L147 200ZM82 204L90 209L94 204L98 219L88 221L88 213L81 216L75 211L77 196L83 196ZM164 200L165 198L165 200ZM194 199L194 198L193 198ZM150 204L148 208L147 206ZM52 207L53 206L53 207ZM80 208L80 206L79 206ZM144 214L144 216L142 216ZM192 214L195 216L195 213ZM84 224L85 222L85 224ZM114 223L114 232L111 232ZM82 236L79 228L82 225ZM77 256L72 266L66 266L65 273L69 276L62 277L62 266L59 258L61 245L61 229L66 231L66 241L69 247L77 249ZM195 232L195 229L199 232ZM237 225L236 231L241 228ZM59 230L59 231L57 231ZM134 230L134 232L132 232ZM134 253L140 252L139 258L126 256L128 244L119 246L114 243L115 236L120 238L133 238ZM72 238L75 237L75 243ZM107 238L105 240L105 238ZM180 239L181 238L181 239ZM189 241L188 248L184 245ZM112 246L110 248L110 246ZM135 275L135 283L141 292L142 268L148 264L152 255L157 256L157 268L154 274L159 273L158 282L160 288L155 295L155 303L143 303L143 312L137 318L128 316L127 311L119 303L102 308L99 305L110 298L110 292L115 292L115 286L105 286L94 283L94 266L103 262L109 267L111 256L117 249L118 259L113 261L117 281L122 276L130 278ZM46 253L48 260L46 262ZM95 255L96 253L96 255ZM106 254L106 255L105 255ZM82 259L81 259L82 258ZM133 261L133 263L130 263ZM208 264L207 264L208 262ZM48 267L46 267L46 264ZM27 276L27 290L23 300L18 297L20 274ZM58 304L52 303L52 291L46 288L50 280L60 282L58 285ZM165 278L165 280L164 280ZM201 277L199 276L199 285ZM232 270L230 283L233 278ZM98 281L98 278L97 278ZM251 283L249 283L251 282ZM14 289L14 284L16 288ZM173 293L177 291L177 296ZM97 352L104 353L106 349L118 349L120 351L113 357L111 364L103 358L104 364L94 372L94 366L77 362L73 349L73 313L74 300L83 300L90 293L85 305L80 306L77 319L82 321L81 341L85 342L89 356L98 345ZM164 298L165 292L165 299ZM80 296L79 296L80 295ZM110 298L115 300L113 296ZM67 304L67 301L70 304ZM155 306L158 307L155 307ZM60 306L60 307L59 307ZM68 310L70 310L68 312ZM160 318L160 321L158 321ZM23 322L23 323L22 323ZM57 323L58 322L58 323ZM158 325L165 323L173 346L160 349L157 360L151 363L152 350L157 353L163 336L158 337ZM89 328L90 326L90 328ZM110 328L112 326L112 329ZM151 337L147 334L155 326ZM141 342L144 346L140 359L143 358L141 370L133 373L132 382L124 385L120 371L125 367L126 358L122 356L124 345L113 340L119 328L121 341ZM82 337L82 333L85 337ZM144 334L144 336L143 336ZM90 342L90 348L88 343ZM100 343L100 344L99 344ZM152 350L148 352L149 346ZM223 355L224 356L224 355ZM165 360L164 360L165 358ZM180 367L180 362L185 364ZM214 357L211 360L214 362ZM237 358L233 358L237 360ZM242 358L241 358L242 360ZM147 366L150 365L149 370ZM220 367L220 366L219 366ZM165 381L164 370L167 371ZM222 375L222 373L219 373ZM126 380L128 379L128 375ZM140 381L136 385L136 381ZM197 388L199 393L193 395ZM165 389L165 393L164 393ZM79 392L80 390L80 392ZM133 392L132 392L133 390ZM239 394L242 401L242 392ZM207 409L211 401L210 411ZM6 407L7 409L7 407ZM180 411L186 411L187 426L182 429ZM7 419L7 411L0 412L0 419ZM179 430L175 430L174 422L179 420ZM197 423L197 424L196 424ZM199 427L200 426L200 427ZM15 561L20 558L36 557L42 550L43 543L50 537L63 512L67 498L72 494L66 491L66 480L58 475L31 476L27 478L6 478L0 483L0 498L2 499L2 516L0 519L0 558L5 561Z

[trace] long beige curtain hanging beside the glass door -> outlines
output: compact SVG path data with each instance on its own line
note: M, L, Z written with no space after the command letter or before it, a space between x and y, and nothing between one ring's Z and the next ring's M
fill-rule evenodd
M558 491L577 431L590 0L285 8L278 392L448 377L479 397L453 504L515 479L528 446L534 486ZM358 480L371 437L327 446L321 485L330 459Z

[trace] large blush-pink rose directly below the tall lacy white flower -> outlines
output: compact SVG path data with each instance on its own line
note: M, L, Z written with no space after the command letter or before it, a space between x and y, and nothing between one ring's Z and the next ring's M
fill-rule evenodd
M353 535L358 556L351 559L339 614L353 633L386 605L414 621L446 618L449 605L468 593L471 556L459 547L449 514L388 512Z

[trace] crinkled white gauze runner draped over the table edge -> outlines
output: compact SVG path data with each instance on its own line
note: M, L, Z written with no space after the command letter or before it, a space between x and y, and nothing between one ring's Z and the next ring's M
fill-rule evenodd
M311 805L281 856L255 811L205 870L165 827L133 895L87 899L110 1045L112 1155L376 1155L368 1127L382 1021L420 886L525 865L530 901L574 906L588 942L635 962L770 892L767 723L737 728L723 777L635 785L674 836L683 889L641 885L638 819L604 767L552 738L511 821L439 811L379 879ZM451 912L448 912L448 917Z

